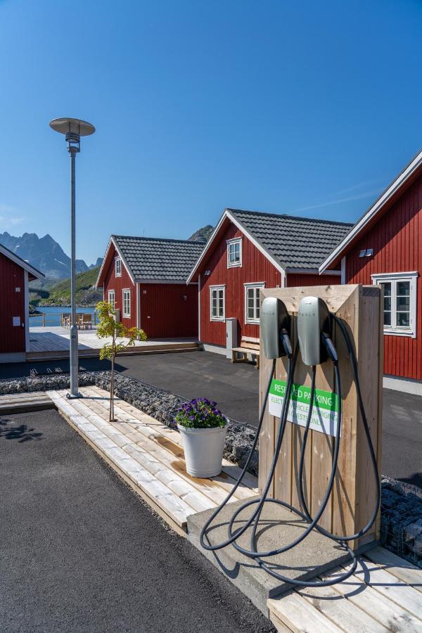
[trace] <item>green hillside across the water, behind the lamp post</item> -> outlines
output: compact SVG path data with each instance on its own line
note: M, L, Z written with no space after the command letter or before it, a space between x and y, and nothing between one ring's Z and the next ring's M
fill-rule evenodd
M76 276L77 305L96 305L103 298L103 290L94 288L100 267L97 266ZM30 284L30 302L33 305L70 305L70 279L64 279L51 288L33 288Z

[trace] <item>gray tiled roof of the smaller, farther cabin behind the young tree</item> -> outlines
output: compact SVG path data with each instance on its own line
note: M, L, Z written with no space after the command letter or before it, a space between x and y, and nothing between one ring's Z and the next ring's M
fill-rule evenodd
M113 235L135 281L186 282L205 242Z

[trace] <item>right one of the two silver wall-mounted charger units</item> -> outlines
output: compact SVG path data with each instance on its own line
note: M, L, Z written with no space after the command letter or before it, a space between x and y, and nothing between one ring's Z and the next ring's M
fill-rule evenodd
M331 316L319 297L304 297L299 304L298 339L305 365L320 365L328 359L322 335L331 338Z

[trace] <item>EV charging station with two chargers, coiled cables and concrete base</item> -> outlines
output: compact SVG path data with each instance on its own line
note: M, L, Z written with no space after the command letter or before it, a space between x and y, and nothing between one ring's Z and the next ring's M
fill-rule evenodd
M350 577L357 554L379 538L382 319L378 286L261 290L257 434L229 495L196 519L196 544L238 586L244 568L245 593L259 608L254 573L268 596L282 586L328 586ZM226 505L258 440L259 495ZM269 508L281 518L265 524Z

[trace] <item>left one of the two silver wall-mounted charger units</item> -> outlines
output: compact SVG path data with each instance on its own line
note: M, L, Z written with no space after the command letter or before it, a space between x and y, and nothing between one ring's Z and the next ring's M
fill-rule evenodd
M290 316L286 306L276 297L266 297L261 304L260 331L264 354L269 359L286 356L282 332L290 334Z

